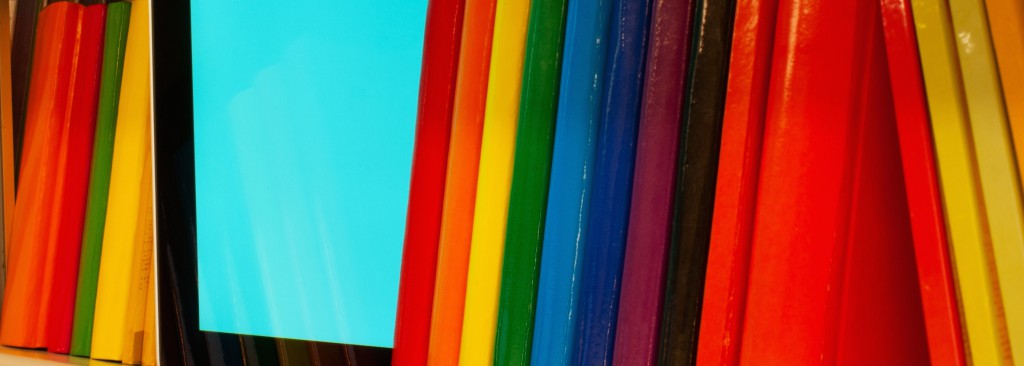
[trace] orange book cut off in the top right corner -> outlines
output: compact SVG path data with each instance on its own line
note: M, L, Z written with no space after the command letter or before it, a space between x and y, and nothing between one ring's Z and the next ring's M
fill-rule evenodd
M986 0L985 6L1020 172L1024 167L1024 1Z

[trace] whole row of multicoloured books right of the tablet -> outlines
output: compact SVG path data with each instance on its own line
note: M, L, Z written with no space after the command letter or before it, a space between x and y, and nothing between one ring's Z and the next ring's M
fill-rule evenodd
M1024 365L1024 3L432 0L395 365Z

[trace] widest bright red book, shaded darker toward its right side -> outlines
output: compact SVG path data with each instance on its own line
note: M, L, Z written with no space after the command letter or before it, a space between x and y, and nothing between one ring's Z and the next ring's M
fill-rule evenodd
M880 14L779 3L743 364L929 362Z

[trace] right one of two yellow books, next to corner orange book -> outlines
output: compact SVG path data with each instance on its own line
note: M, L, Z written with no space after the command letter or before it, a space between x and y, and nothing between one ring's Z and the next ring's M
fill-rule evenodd
M1010 353L1024 359L1024 207L983 0L951 0ZM1018 35L1024 37L1024 35ZM1024 360L1019 361L1024 364Z

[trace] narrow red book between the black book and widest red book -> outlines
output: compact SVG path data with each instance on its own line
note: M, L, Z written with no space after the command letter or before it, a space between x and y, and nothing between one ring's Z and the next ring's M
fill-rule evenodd
M736 3L697 364L739 363L778 0Z

